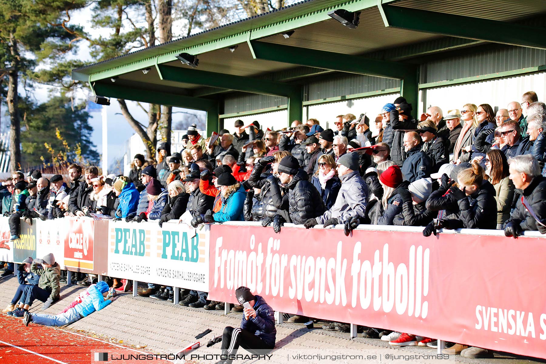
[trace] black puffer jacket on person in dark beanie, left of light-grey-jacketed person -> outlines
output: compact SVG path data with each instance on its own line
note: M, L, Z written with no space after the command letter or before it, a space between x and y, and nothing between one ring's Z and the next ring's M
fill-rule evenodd
M284 188L285 195L288 194L288 212L294 224L302 225L307 219L319 217L326 210L321 194L309 182L307 172L304 170L298 170L292 182Z

